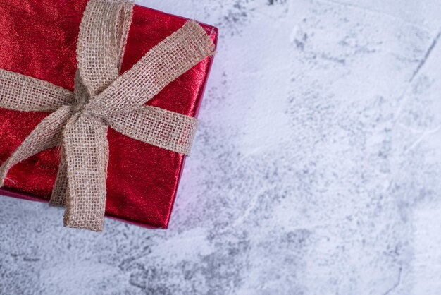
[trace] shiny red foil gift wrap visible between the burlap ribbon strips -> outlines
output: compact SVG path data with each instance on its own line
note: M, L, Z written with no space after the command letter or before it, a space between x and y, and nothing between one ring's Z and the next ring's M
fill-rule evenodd
M73 90L76 42L87 0L0 0L0 68ZM186 18L135 6L121 71L184 25ZM213 42L218 30L201 24ZM212 57L164 88L149 105L197 116ZM1 94L0 94L1 99ZM0 162L48 113L0 108ZM185 157L123 136L109 128L106 216L144 227L167 228ZM0 193L48 201L59 148L16 164Z

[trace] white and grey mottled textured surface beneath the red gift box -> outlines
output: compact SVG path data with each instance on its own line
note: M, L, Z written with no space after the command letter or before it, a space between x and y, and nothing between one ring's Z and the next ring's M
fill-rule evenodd
M441 294L441 0L137 3L221 30L170 229L0 198L1 294Z

